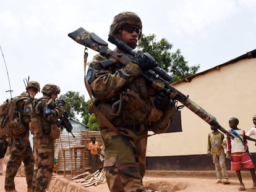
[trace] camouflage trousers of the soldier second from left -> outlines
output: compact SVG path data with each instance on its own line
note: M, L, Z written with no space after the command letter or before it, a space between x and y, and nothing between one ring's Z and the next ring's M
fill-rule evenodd
M36 165L32 191L45 191L51 182L54 169L54 140L49 135L33 138L36 151Z

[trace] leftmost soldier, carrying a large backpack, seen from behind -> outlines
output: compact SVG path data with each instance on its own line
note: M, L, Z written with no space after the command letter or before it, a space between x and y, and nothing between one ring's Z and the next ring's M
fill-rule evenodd
M32 112L32 102L38 91L40 91L39 83L30 81L27 85L27 91L20 94L19 97L22 99L17 102L17 111L20 113L20 118L25 128L23 133L14 135L14 140L11 144L11 156L6 167L6 181L4 186L6 191L15 191L14 177L21 162L23 162L25 167L28 191L31 191L32 188L35 159L29 141L28 124Z

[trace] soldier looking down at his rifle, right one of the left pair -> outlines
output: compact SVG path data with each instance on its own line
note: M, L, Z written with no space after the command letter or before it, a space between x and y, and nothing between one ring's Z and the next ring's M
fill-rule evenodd
M48 83L41 91L43 96L33 104L34 112L30 123L36 151L36 166L33 175L32 191L45 191L51 182L54 168L54 140L61 133L57 120L61 117L66 102L55 99L60 93L59 86Z

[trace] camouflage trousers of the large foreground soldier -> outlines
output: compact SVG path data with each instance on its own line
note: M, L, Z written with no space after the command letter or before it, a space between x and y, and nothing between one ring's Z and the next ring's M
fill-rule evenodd
M146 191L145 175L147 133L144 126L117 127L119 133L101 129L105 143L106 181L111 192Z

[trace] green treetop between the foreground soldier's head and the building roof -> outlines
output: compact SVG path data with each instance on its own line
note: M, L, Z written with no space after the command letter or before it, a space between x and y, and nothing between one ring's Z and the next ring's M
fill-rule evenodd
M197 73L200 65L189 67L188 62L181 55L180 49L177 49L176 52L171 52L173 44L164 38L157 42L155 38L154 34L149 36L142 35L137 49L151 54L160 67L171 75L171 83Z

